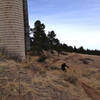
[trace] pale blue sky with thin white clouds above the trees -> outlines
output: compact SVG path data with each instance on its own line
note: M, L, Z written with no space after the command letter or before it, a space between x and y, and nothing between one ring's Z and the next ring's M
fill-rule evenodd
M28 0L29 24L40 20L61 43L100 50L100 0Z

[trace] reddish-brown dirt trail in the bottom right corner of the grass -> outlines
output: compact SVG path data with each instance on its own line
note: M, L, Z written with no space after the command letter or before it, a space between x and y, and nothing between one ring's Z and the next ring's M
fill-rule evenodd
M80 82L81 86L84 88L85 92L87 93L87 95L93 99L93 100L100 100L100 93L97 92L95 89L93 89L92 87L86 85L83 82Z

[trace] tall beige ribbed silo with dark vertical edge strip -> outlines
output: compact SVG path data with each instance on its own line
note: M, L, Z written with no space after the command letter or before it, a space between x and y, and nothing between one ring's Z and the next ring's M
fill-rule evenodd
M21 59L25 58L25 34L29 32L26 3L27 0L0 0L0 50Z

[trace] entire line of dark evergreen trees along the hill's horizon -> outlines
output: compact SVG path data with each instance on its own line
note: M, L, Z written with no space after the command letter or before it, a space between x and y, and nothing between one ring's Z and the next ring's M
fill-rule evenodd
M68 46L67 44L60 43L59 39L56 38L54 31L45 33L45 25L41 21L37 20L34 24L34 28L30 30L33 32L31 37L31 55L41 55L43 50L52 52L56 50L59 54L64 52L75 52L89 55L100 55L99 50L85 50L82 46L76 48L75 46Z

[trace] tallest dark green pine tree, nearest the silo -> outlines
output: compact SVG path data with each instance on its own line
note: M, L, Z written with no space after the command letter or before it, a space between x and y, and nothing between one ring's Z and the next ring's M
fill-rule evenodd
M45 25L37 20L34 24L33 38L31 38L31 50L42 52L42 50L47 50L48 39L45 34Z

